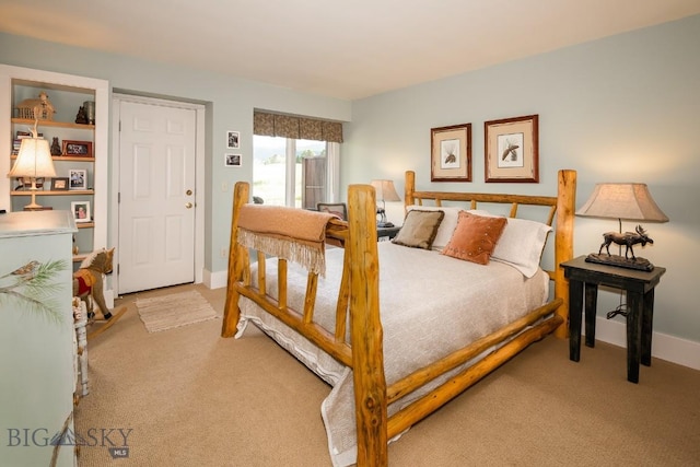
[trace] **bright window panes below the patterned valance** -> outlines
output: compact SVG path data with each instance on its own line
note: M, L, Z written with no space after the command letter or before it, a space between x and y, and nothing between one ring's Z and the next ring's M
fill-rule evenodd
M253 196L266 205L315 208L335 201L339 144L253 137Z

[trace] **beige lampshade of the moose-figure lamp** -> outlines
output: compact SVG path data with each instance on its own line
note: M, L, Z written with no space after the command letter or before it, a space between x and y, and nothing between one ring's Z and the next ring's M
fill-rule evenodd
M645 184L597 184L578 215L629 221L668 222Z

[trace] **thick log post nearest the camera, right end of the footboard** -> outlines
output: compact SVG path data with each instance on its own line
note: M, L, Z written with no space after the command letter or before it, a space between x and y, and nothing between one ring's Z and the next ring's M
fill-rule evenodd
M348 190L350 234L350 320L358 466L386 466L387 412L383 331L380 320L380 262L376 201L371 185Z

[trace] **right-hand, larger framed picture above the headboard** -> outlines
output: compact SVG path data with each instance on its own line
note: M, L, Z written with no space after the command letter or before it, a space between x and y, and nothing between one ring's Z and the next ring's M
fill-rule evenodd
M483 124L486 182L539 183L538 116Z

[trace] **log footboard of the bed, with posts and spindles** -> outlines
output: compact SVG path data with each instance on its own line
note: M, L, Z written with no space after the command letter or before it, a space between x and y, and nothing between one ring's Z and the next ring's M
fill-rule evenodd
M266 256L258 253L258 287L252 287L248 249L238 238L241 209L248 202L249 188L237 183L234 190L229 255L229 278L221 336L233 337L241 317L241 296L296 330L320 349L352 367L358 427L358 465L387 464L387 398L384 378L383 331L380 322L376 203L369 185L349 187L348 222L330 220L326 238L345 246L345 267L336 313L336 328L329 332L314 323L317 273L310 272L303 312L287 306L287 261L278 260L278 300L266 293ZM350 317L350 345L346 330Z

